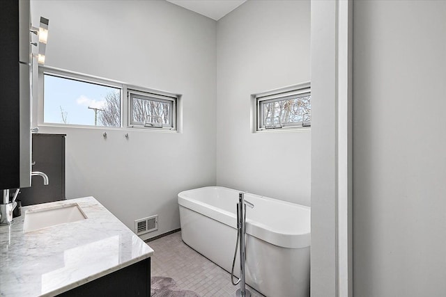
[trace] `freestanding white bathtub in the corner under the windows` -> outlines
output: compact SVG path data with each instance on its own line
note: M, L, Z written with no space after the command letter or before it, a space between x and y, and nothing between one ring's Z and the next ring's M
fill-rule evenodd
M231 272L238 193L208 186L178 194L183 241ZM310 207L250 193L246 212L246 282L269 297L309 296ZM238 276L240 264L234 272Z

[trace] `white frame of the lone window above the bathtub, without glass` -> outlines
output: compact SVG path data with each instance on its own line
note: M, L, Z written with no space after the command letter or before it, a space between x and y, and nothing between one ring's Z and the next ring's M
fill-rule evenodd
M254 131L278 131L281 129L310 129L311 120L307 122L293 122L293 123L281 123L281 125L271 125L267 127L263 115L263 106L271 102L279 102L286 99L292 99L296 97L311 96L311 84L300 83L295 86L289 86L286 88L279 88L276 90L270 90L264 93L258 93L252 95L252 101L255 111L255 123ZM311 115L310 115L311 116ZM280 128L280 129L277 129Z

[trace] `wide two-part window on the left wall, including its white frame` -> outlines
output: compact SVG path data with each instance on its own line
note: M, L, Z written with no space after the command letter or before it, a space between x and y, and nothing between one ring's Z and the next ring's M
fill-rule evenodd
M39 73L39 124L177 130L180 95L50 67Z

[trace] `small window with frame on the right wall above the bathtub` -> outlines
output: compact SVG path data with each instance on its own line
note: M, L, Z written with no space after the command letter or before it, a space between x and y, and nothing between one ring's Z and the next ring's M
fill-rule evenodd
M309 127L312 95L309 83L254 95L256 130Z

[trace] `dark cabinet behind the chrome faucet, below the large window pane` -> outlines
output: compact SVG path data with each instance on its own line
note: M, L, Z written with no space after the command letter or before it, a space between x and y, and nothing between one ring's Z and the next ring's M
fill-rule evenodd
M33 134L32 168L48 175L49 184L33 176L31 188L20 189L22 206L66 199L65 139L65 134Z

